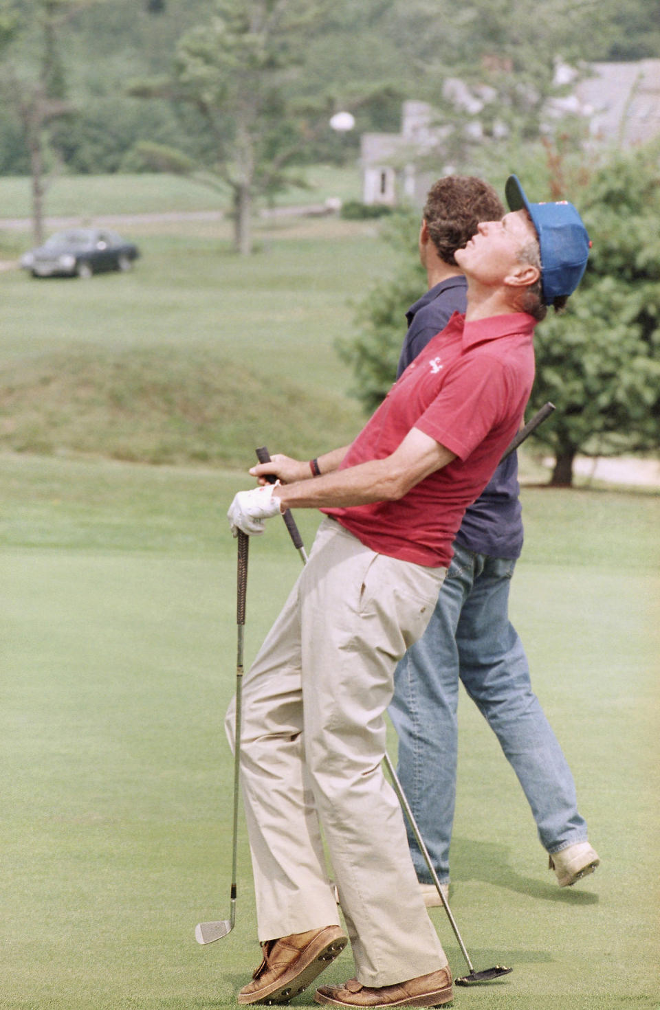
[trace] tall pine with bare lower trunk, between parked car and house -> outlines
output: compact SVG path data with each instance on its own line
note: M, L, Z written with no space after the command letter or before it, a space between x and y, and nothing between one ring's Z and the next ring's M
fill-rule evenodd
M211 21L180 39L173 77L131 88L192 106L203 120L205 149L172 150L169 165L164 147L153 153L161 168L229 188L242 254L252 251L255 196L284 185L286 167L327 130L328 109L290 93L325 9L326 0L216 0Z

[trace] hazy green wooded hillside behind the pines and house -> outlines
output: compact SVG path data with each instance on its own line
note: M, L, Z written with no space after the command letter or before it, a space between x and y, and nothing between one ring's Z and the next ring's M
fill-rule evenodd
M58 59L61 87L73 111L53 133L64 170L145 168L136 154L144 140L202 155L207 137L201 120L176 102L147 109L128 96L128 86L134 79L170 73L177 41L209 21L217 9L214 0L59 0L67 2L76 12L59 39ZM17 18L20 28L3 62L11 59L27 78L34 76L40 59L39 25L49 3L54 6L53 0L0 3L0 21L3 16ZM300 57L305 72L292 80L291 97L353 105L357 127L348 138L314 140L302 161L341 161L347 146L356 149L360 132L396 130L402 98L437 100L448 74L484 80L484 56L511 61L512 72L494 69L485 79L503 96L508 94L513 123L525 114L521 89L530 83L543 93L558 54L569 61L618 61L660 53L660 12L654 0L579 0L569 6L564 0L547 0L541 8L531 0L469 0L459 11L449 0L336 0L323 16L322 29ZM27 164L16 112L9 103L4 106L0 173L21 174ZM530 125L534 129L534 118Z

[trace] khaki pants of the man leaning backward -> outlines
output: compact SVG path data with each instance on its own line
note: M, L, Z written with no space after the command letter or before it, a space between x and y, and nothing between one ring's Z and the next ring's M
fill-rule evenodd
M339 924L322 828L367 986L447 964L381 767L394 668L423 632L444 576L377 554L325 518L243 686L241 773L259 938ZM233 729L232 703L230 743Z

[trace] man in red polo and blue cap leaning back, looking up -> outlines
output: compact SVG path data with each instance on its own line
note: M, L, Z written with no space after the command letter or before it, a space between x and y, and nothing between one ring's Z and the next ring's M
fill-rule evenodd
M468 279L465 316L427 345L353 444L309 464L275 456L251 473L278 483L241 492L229 509L232 530L248 534L287 508L325 513L243 687L242 782L264 960L240 1003L288 1001L347 942L321 830L356 978L321 987L316 1001L453 998L381 769L383 716L395 666L436 605L463 513L522 422L536 321L586 265L575 208L530 204L515 177L507 198L514 209L480 224L456 254ZM230 741L233 726L230 706Z

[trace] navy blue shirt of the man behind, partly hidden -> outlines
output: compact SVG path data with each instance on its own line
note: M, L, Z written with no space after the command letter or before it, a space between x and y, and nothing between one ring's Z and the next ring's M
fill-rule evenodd
M408 330L401 347L396 378L431 338L444 329L454 312L465 312L467 281L450 277L430 288L405 313ZM463 517L457 541L489 558L518 558L523 549L523 509L518 500L517 457L511 452L499 465L481 496Z

